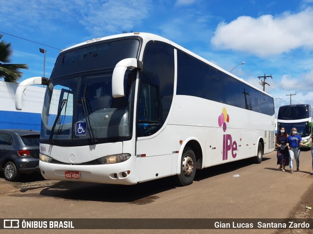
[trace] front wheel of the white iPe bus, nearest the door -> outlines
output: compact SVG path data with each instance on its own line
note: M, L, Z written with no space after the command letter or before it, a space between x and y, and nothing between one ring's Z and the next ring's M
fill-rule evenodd
M180 174L176 176L176 184L186 186L192 184L197 169L196 156L190 147L185 147L180 163Z

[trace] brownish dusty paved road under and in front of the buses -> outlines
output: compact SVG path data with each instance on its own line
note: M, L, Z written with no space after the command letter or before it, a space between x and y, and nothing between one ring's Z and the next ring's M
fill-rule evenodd
M232 162L198 171L194 183L170 178L135 186L47 181L0 175L0 218L313 218L311 151L300 172L278 171L276 152L261 164ZM294 163L295 164L295 163ZM239 177L234 177L234 175ZM92 230L90 233L310 233L309 230ZM88 230L4 230L3 233L88 233ZM21 232L22 231L22 232Z

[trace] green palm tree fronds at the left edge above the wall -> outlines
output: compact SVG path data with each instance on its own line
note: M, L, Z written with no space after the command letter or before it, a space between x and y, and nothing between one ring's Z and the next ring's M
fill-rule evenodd
M0 34L0 39L3 35ZM6 82L17 83L22 78L23 73L21 69L28 69L27 64L13 64L11 63L11 56L13 49L11 43L4 40L0 41L0 79L3 78Z

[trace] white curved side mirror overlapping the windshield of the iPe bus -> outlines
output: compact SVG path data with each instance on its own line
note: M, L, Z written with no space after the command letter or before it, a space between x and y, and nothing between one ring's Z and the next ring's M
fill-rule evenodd
M113 70L112 74L112 97L124 97L124 76L128 68L138 68L142 70L142 61L134 58L120 60Z

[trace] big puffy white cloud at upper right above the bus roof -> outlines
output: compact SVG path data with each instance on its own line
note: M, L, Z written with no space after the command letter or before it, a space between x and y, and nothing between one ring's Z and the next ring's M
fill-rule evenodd
M297 14L285 12L273 17L238 17L230 23L221 22L211 43L218 49L231 49L268 57L300 47L313 48L313 10Z

